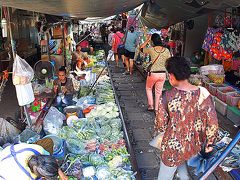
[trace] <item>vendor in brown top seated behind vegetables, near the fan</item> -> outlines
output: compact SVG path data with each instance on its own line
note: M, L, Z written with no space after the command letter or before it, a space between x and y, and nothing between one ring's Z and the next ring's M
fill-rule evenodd
M73 83L72 79L67 78L65 67L61 67L58 71L58 79L54 82L54 93L57 94L56 106L62 111L63 107L73 104Z

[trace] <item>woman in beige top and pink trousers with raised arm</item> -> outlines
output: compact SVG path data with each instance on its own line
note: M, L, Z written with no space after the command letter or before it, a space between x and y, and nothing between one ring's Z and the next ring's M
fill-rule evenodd
M146 48L146 45L151 42L151 47ZM170 51L163 47L159 34L153 34L148 36L147 40L140 45L140 49L145 54L149 54L151 57L151 68L149 69L146 92L148 99L148 110L157 111L159 99L162 95L163 85L166 79L165 62L171 57ZM155 85L155 107L153 102L153 86Z

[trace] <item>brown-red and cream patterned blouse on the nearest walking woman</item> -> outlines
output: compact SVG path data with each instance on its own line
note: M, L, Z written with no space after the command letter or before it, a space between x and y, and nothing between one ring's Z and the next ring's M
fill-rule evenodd
M183 164L200 152L206 140L213 143L217 137L216 110L209 92L203 89L207 95L200 96L200 89L173 88L160 99L155 130L164 132L161 158L167 166Z

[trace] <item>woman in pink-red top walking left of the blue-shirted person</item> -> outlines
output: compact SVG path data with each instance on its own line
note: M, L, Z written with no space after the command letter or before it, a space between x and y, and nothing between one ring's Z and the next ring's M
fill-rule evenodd
M123 43L123 37L124 37L123 33L121 33L120 31L114 30L114 35L112 39L112 51L114 52L114 57L116 60L117 67L118 67L118 60L119 60L118 46Z

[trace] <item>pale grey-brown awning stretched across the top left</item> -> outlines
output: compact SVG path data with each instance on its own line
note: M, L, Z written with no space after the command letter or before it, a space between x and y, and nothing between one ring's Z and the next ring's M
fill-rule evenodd
M146 0L1 0L3 6L68 17L108 17L127 12Z

